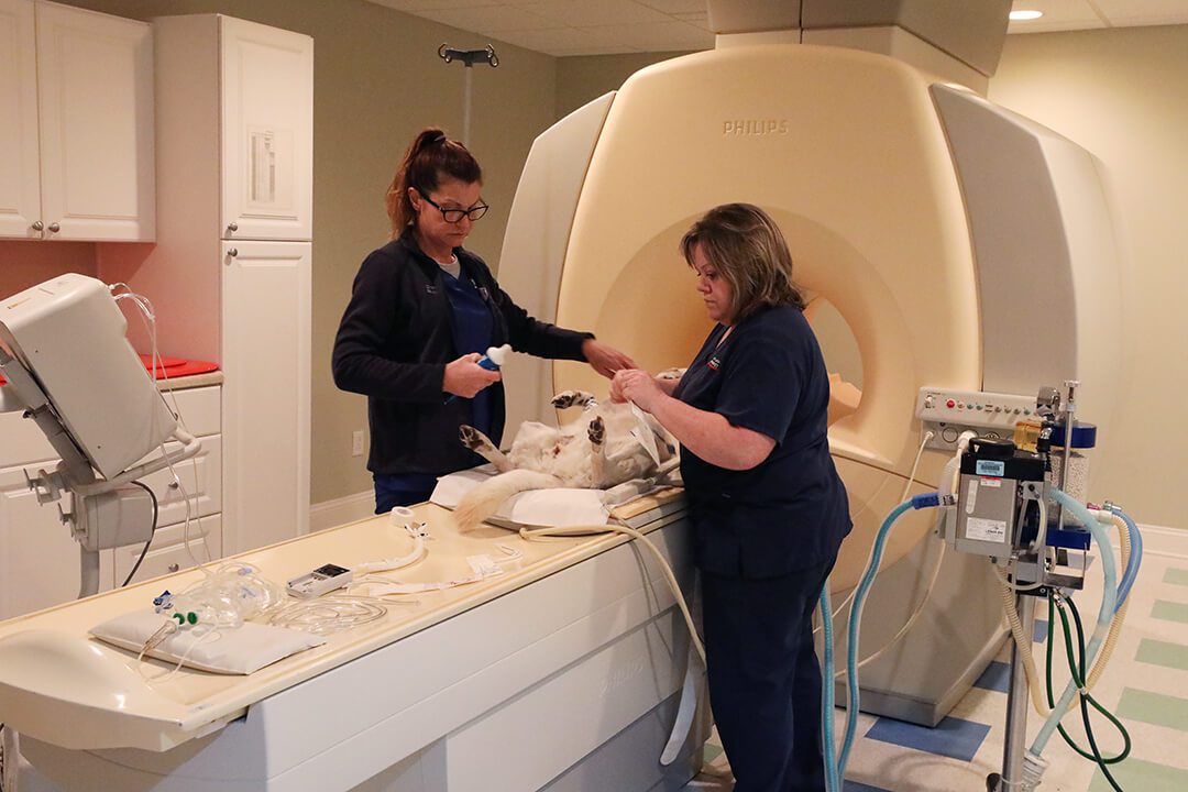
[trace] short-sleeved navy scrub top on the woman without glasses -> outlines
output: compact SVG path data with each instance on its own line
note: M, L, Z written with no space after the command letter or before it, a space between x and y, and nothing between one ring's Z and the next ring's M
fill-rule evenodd
M829 378L816 336L791 305L715 327L674 395L776 441L750 470L681 449L697 565L764 578L835 557L849 533L846 489L829 456Z

